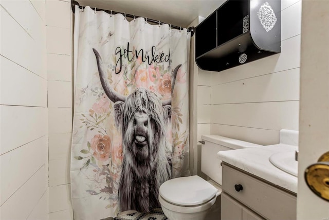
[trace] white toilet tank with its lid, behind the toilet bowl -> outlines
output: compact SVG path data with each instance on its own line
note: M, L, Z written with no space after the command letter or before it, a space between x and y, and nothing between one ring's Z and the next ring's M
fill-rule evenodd
M262 146L218 135L202 135L201 138L204 141L201 147L201 171L221 186L222 166L217 159L218 151Z

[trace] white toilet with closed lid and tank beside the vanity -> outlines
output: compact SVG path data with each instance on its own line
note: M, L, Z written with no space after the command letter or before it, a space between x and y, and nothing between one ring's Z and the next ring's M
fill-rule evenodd
M201 170L211 179L194 175L173 178L159 189L159 202L169 220L220 219L222 193L222 166L217 152L261 145L218 136L202 136Z

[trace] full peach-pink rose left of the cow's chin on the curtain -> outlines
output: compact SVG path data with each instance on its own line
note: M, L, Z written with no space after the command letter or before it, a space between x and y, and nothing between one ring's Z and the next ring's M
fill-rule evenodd
M99 161L106 161L111 154L111 139L108 135L97 134L93 137L90 147L94 150L94 157Z

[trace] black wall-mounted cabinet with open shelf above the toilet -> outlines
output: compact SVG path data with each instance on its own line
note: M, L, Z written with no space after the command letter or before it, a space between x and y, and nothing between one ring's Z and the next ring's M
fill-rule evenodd
M195 61L203 70L222 71L280 52L280 0L228 0L195 29Z

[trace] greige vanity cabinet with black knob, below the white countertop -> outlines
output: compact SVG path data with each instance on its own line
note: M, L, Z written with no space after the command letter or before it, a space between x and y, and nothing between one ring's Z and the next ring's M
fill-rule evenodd
M296 194L227 163L223 166L221 220L294 220Z

